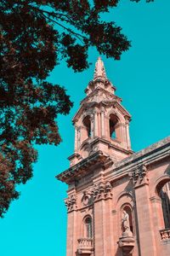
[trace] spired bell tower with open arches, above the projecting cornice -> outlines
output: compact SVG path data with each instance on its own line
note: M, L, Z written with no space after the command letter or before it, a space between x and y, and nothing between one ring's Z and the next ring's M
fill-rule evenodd
M112 160L122 160L132 154L129 137L131 115L115 95L116 87L107 79L104 62L99 57L94 79L85 90L87 96L72 119L75 126L75 153L71 166L101 150Z

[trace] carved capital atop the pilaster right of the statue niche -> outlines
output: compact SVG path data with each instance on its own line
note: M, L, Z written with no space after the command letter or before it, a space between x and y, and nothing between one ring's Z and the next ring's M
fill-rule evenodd
M133 180L133 184L135 186L149 182L149 178L147 176L147 169L144 165L141 165L133 170L133 172L130 172L129 177Z

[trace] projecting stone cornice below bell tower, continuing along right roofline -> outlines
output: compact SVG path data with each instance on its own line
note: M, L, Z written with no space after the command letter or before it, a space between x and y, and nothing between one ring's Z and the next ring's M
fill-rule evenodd
M102 151L95 152L88 156L88 158L78 162L75 166L71 166L65 172L61 172L56 178L62 182L71 183L82 177L84 173L88 174L91 166L99 165L104 169L112 166L110 171L105 173L105 177L111 182L113 179L119 179L128 175L129 172L133 172L141 165L150 166L150 164L167 157L170 158L170 137L166 137L158 143L152 144L150 147L144 148L115 163L113 163L108 154Z

